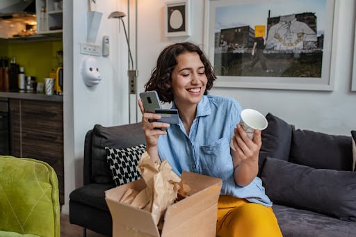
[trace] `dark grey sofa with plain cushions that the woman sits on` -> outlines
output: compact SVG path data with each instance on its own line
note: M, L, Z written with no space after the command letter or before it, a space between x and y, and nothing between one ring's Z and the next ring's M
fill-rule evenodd
M259 176L273 201L284 236L355 236L356 172L349 136L295 129L270 113L262 133ZM86 134L84 186L70 194L70 222L112 235L104 191L115 187L105 147L145 144L140 124L104 127ZM117 183L117 182L116 182Z

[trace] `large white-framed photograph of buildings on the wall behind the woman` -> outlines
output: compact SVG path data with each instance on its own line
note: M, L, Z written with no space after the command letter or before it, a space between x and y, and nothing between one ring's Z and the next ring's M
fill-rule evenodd
M204 0L204 8L216 86L334 89L334 0Z

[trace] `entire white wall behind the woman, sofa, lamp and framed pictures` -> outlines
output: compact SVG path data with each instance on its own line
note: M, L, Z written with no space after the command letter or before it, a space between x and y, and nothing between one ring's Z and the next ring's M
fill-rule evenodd
M92 129L94 124L111 126L129 122L127 47L123 28L119 27L117 20L107 19L113 10L127 13L127 6L120 4L124 1L118 2L97 1L97 11L103 13L97 43L101 42L102 35L109 35L111 54L108 58L97 57L102 65L104 79L95 88L87 88L80 74L81 61L86 56L79 53L79 42L86 40L88 0L65 0L67 13L63 19L64 63L67 69L64 95L66 198L63 211L66 213L70 192L83 182L83 143L86 131ZM134 2L131 0L131 19L134 19ZM350 130L356 128L356 93L350 92L356 3L353 0L336 2L337 27L334 33L337 34L337 48L333 49L335 56L332 65L332 92L213 88L211 94L234 97L245 108L256 108L264 114L273 113L300 129L350 135ZM184 40L204 43L204 0L193 0L191 3L191 37L168 39L163 32L165 0L138 0L138 92L143 91L143 85L163 47ZM134 22L131 23L131 47L134 46L133 25ZM131 103L131 107L131 110L135 109L136 101Z

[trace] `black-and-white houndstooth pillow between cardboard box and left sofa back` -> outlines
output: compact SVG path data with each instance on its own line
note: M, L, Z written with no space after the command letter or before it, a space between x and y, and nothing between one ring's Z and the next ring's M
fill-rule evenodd
M145 152L145 147L143 144L123 149L105 147L106 160L116 186L140 179L137 165L141 154Z

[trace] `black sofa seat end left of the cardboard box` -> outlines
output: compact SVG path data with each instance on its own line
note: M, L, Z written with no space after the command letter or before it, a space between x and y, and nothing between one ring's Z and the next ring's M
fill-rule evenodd
M109 211L105 201L105 191L114 187L113 183L90 183L73 190L70 193L70 201L80 202L104 211Z

